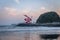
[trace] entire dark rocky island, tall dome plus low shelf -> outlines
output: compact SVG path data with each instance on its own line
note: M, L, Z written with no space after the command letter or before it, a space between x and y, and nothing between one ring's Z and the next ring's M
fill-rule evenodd
M56 12L46 12L41 14L36 23L19 23L16 26L54 26L60 27L60 17Z

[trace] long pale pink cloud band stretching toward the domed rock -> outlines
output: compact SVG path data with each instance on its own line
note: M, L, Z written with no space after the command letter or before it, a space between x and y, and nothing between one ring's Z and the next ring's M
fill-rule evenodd
M17 18L21 17L22 18L26 14L28 16L33 16L34 18L37 18L42 13L47 12L49 10L45 7L40 7L36 11L31 10L31 9L27 9L27 8L22 9L22 10L18 10L16 8L5 7L5 11L7 12L8 15L11 15L12 17L17 17Z

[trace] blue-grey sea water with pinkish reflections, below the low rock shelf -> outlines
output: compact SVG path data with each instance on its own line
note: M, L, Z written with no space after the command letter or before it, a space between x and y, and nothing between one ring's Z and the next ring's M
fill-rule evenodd
M60 34L60 27L44 26L3 26L0 27L0 40L40 40L41 34Z

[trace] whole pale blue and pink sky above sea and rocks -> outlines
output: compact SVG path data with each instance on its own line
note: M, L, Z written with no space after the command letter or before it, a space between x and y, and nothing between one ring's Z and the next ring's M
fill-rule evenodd
M24 23L24 15L32 16L32 23L44 12L60 15L60 0L0 0L0 25Z

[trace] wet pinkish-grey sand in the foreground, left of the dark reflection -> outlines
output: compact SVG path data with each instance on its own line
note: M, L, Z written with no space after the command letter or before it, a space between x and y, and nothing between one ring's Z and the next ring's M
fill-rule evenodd
M42 40L39 35L29 32L0 32L0 40ZM60 36L57 40L60 40Z

